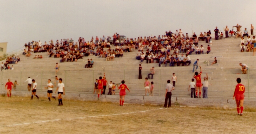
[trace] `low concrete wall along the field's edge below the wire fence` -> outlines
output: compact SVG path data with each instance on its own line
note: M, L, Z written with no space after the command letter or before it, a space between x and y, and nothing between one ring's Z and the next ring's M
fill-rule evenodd
M0 91L1 94L5 91ZM6 94L6 93L5 93ZM47 100L46 92L37 92L40 99ZM27 97L30 99L31 92L12 91L12 96ZM6 97L6 96L5 96ZM36 99L36 98L35 98ZM97 94L76 94L66 93L63 95L63 100L80 100L80 101L101 101L101 102L114 102L119 103L119 95L101 95L98 100ZM139 104L157 104L164 105L165 97L148 97L148 96L125 96L125 103L139 103ZM235 108L235 100L227 99L196 99L196 98L184 98L184 97L172 97L172 105L180 106L207 106L207 107L223 107L223 108ZM57 101L56 101L57 103ZM256 107L255 100L244 100L244 106Z

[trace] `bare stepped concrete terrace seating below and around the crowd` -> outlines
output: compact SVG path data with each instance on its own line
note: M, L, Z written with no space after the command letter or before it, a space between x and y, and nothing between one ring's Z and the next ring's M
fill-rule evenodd
M245 38L246 40L246 38ZM176 73L177 82L175 90L173 91L174 97L190 97L190 91L188 91L188 84L191 82L193 76L193 62L198 58L199 65L203 68L202 79L208 73L209 86L208 97L209 98L232 98L234 87L236 85L236 78L242 79L242 84L245 85L245 98L256 98L256 58L253 57L253 52L240 52L240 38L223 38L222 40L212 40L211 52L206 54L207 45L205 41L199 41L199 45L203 45L204 53L196 55L193 52L191 57L192 64L190 66L174 66L170 67L169 64L165 67L162 64L158 67L157 63L146 64L146 60L142 63L142 77L143 80L138 80L138 67L140 61L136 60L135 56L138 50L134 50L130 53L124 53L123 58L115 58L114 61L105 61L105 58L98 58L95 56L83 57L78 62L64 62L60 63L60 71L57 73L59 78L63 78L67 93L80 93L80 94L92 94L93 83L99 76L103 76L103 69L105 67L106 78L109 81L113 81L115 84L125 80L125 84L131 89L131 93L128 95L143 96L144 90L144 78L150 73L149 69L155 67L154 81L154 96L165 95L165 85L167 80L171 80L172 73ZM114 46L111 46L114 49ZM173 53L173 51L171 52ZM42 54L43 59L33 59L35 54ZM185 55L185 53L184 53ZM56 62L60 62L60 58L49 58L47 53L34 53L30 57L19 55L20 62L14 65L15 70L4 70L0 74L1 76L1 89L4 90L5 82L8 78L11 78L12 82L18 81L17 90L27 91L27 83L23 82L27 77L35 79L38 84L38 91L46 92L44 87L47 84L47 80L51 79L54 83ZM218 64L208 66L204 64L204 61L214 61L214 57L217 57ZM87 58L92 58L95 62L93 68L84 68L87 64ZM245 63L249 65L249 75L241 74L241 67L239 63ZM199 69L197 71L200 71ZM249 78L249 80L248 80ZM248 90L249 89L249 90ZM56 90L56 88L54 88ZM249 92L248 92L249 91ZM108 92L108 89L106 90ZM116 90L116 94L119 91Z

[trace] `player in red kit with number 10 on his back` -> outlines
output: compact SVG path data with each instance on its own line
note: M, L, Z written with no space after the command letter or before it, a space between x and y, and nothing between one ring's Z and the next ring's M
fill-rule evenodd
M236 85L236 89L234 92L233 100L236 98L237 114L241 115L241 116L243 115L243 110L244 110L244 106L243 106L244 92L245 92L245 87L244 87L244 85L241 84L241 79L237 78L237 85Z

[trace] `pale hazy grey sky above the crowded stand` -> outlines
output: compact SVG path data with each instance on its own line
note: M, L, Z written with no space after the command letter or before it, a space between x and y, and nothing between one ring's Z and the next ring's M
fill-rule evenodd
M29 41L63 38L129 38L165 31L200 34L237 23L256 25L256 0L0 0L0 42L7 52Z

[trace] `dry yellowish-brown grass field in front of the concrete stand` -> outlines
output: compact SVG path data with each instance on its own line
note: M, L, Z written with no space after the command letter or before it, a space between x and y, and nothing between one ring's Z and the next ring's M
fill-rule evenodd
M0 134L256 133L255 109L139 105L0 97ZM236 107L236 106L234 106Z

